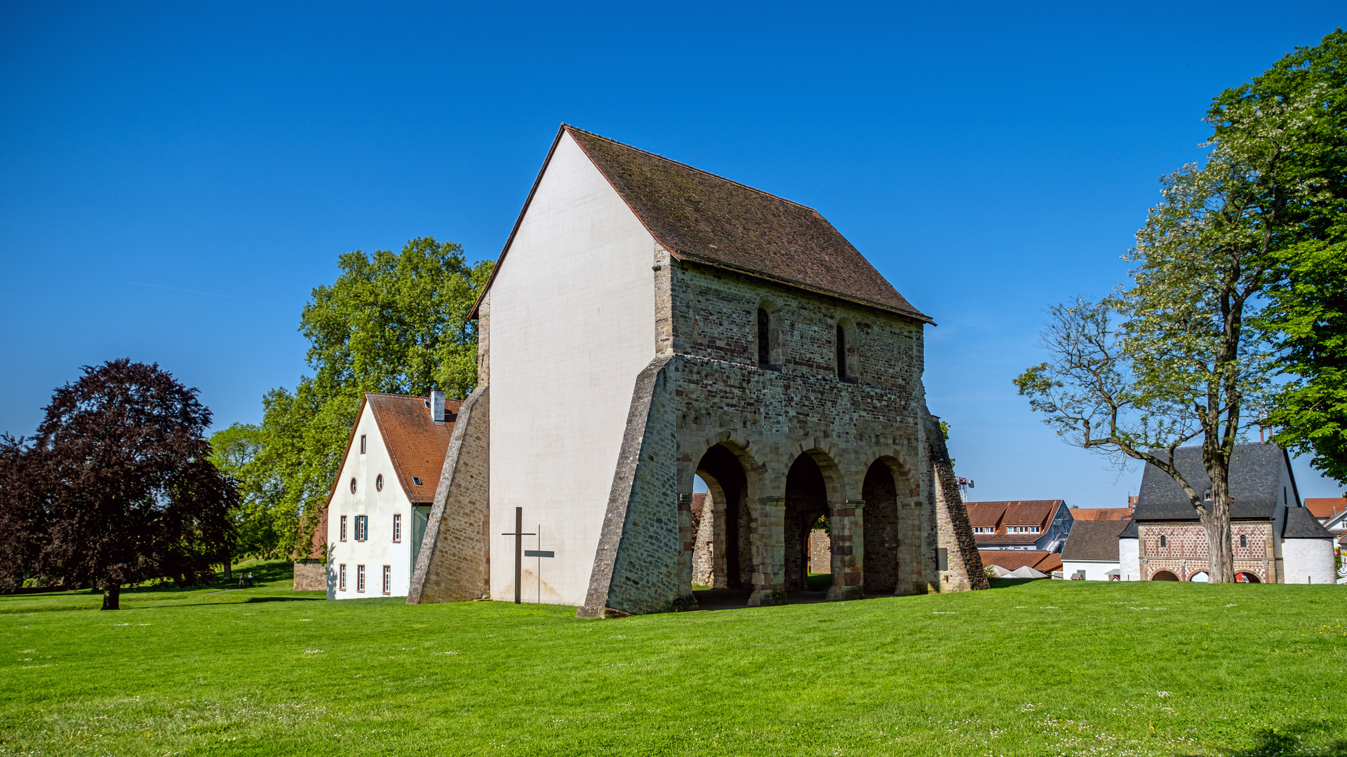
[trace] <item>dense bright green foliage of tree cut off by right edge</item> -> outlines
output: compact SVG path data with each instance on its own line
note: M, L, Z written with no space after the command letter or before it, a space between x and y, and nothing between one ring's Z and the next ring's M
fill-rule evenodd
M1347 484L1347 34L1336 30L1223 92L1210 120L1238 155L1284 154L1277 276L1254 325L1288 381L1265 420L1278 443Z

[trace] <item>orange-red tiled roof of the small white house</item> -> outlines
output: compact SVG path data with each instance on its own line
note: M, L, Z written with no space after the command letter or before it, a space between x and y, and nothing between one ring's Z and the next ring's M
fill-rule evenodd
M430 418L428 397L408 397L405 395L365 395L369 409L379 423L379 434L388 447L393 470L403 492L412 502L430 502L439 486L439 473L445 467L445 451L454 435L453 419L463 403L445 400L446 423L435 423ZM418 485L412 478L419 478Z

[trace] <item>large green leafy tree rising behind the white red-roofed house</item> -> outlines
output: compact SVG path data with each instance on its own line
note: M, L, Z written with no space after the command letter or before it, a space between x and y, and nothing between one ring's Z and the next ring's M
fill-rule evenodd
M492 271L469 264L462 246L431 237L400 253L360 251L338 259L341 273L318 287L299 331L314 374L263 397L255 465L275 481L268 500L279 547L307 554L365 392L465 399L477 384L473 303Z

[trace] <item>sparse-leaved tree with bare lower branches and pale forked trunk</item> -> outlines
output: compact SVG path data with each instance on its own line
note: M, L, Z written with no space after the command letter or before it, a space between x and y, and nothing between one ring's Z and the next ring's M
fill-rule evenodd
M1324 44L1340 48L1340 34ZM1214 150L1204 166L1161 179L1162 201L1126 256L1138 264L1131 284L1055 307L1044 334L1052 360L1016 378L1070 442L1173 477L1206 529L1212 582L1234 581L1230 459L1276 373L1250 322L1284 291L1296 251L1321 249L1332 226L1316 222L1335 202L1316 141L1323 101L1316 88L1218 96ZM1175 450L1199 438L1210 489L1175 465Z

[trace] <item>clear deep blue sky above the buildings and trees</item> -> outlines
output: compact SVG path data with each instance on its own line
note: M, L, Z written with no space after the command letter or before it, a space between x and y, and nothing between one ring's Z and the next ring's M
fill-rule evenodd
M494 259L567 121L832 221L939 322L929 405L974 498L1122 505L1140 474L1010 378L1049 303L1123 280L1210 98L1347 13L1084 5L0 4L0 431L116 357L259 420L339 253Z

